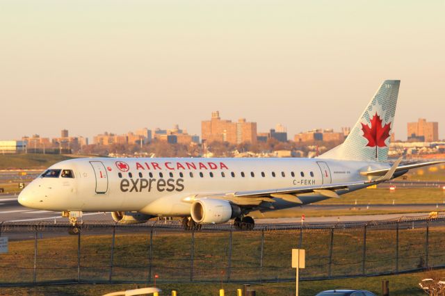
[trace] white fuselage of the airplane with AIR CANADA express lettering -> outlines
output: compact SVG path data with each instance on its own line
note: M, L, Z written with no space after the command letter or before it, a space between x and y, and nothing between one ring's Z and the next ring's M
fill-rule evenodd
M71 170L71 177L40 176L22 191L19 202L49 211L188 216L186 198L191 196L362 181L366 177L359 172L388 167L320 158L78 158L49 167ZM303 204L326 198L315 193L300 197ZM293 206L280 200L273 209Z

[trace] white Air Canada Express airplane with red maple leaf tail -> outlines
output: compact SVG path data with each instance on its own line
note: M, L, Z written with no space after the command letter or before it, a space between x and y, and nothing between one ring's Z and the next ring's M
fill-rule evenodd
M184 229L234 219L254 228L252 211L339 198L426 165L387 161L400 81L384 81L346 140L315 158L76 158L51 165L19 194L29 208L62 211L79 231L83 212L111 212L122 224L181 217Z

